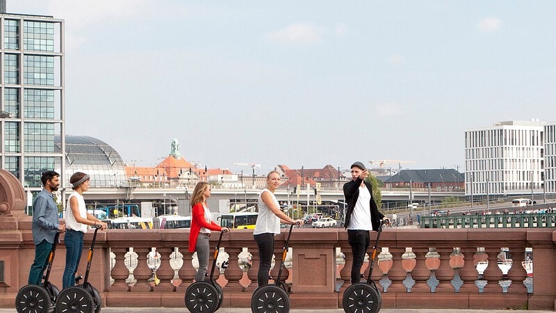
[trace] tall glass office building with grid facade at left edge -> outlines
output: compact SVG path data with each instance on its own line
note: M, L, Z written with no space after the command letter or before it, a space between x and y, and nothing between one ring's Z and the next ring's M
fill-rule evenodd
M66 177L64 21L0 13L0 168L41 187L45 170Z

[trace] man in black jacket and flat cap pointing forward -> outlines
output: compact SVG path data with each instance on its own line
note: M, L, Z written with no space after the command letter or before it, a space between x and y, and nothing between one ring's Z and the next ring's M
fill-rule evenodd
M343 195L347 202L344 227L347 229L347 242L353 253L352 284L361 280L361 266L370 245L369 231L378 231L380 221L388 218L378 211L373 198L373 188L365 179L369 176L363 163L357 161L351 166L352 181L343 185Z

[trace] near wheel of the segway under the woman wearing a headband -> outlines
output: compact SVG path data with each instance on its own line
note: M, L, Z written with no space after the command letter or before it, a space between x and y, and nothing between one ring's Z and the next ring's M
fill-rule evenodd
M56 299L56 312L92 313L97 310L95 299L82 287L68 287L60 291Z

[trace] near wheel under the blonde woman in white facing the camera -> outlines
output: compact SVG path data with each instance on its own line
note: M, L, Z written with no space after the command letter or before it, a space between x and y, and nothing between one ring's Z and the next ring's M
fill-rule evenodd
M290 298L284 289L268 284L257 289L251 298L251 312L285 313L290 311Z

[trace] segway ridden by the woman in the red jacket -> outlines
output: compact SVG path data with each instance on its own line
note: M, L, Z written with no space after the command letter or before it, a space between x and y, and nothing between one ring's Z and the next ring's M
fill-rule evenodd
M222 302L224 301L224 294L222 292L222 287L220 284L214 280L214 271L216 269L216 259L218 258L218 253L220 252L220 243L222 243L222 234L220 232L220 238L218 238L218 243L214 250L213 266L211 268L211 275L208 280L203 282L194 282L190 284L186 289L186 307L190 312L201 313L208 312L212 313L220 309Z

